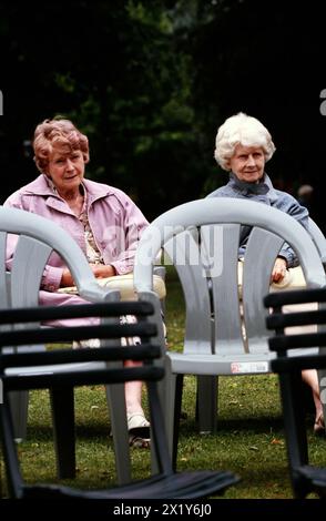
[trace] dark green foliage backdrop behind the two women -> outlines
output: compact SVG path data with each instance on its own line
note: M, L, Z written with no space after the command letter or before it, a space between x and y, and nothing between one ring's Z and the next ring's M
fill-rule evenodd
M55 114L89 135L88 176L128 192L150 219L224 184L214 137L238 111L271 131L277 153L267 171L278 187L294 194L302 183L317 187L326 125L320 7L3 0L2 201L37 175L30 140ZM323 197L315 194L313 216L323 227Z

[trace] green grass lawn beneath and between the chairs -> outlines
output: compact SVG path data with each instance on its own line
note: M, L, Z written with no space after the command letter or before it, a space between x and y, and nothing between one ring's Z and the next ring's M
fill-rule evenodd
M180 286L167 279L166 324L170 348L183 340L184 306ZM224 498L292 498L287 473L286 448L275 375L221 377L218 388L220 422L214 436L200 436L196 429L195 378L186 377L177 467L190 469L228 469L242 481L230 488ZM114 464L110 421L103 387L75 391L78 473L69 484L103 488L114 483ZM326 438L313 435L314 416L307 418L312 462L326 464ZM22 468L29 481L52 479L55 461L52 447L48 391L30 397L28 439L19 446ZM150 472L150 451L132 450L133 477ZM2 493L6 479L1 467Z

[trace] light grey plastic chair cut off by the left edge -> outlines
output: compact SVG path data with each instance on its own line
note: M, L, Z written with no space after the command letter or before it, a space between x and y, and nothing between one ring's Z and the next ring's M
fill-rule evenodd
M8 234L18 235L11 273L6 270L6 251ZM39 288L47 260L57 252L72 273L81 297L91 303L116 302L120 294L101 287L78 244L59 225L30 212L17 208L0 207L0 308L21 308L38 306ZM35 350L40 347L30 347ZM94 362L95 364L95 362ZM95 368L94 364L77 364L83 370ZM10 369L8 369L10 371ZM35 368L39 371L40 368ZM47 366L45 371L55 371L55 366ZM22 369L22 372L27 369ZM29 371L33 371L29 368ZM20 372L21 374L21 372ZM106 388L106 398L111 411L111 431L114 439L118 480L126 483L131 479L129 460L129 437L125 417L124 386ZM64 397L51 394L52 417L55 441L58 474L60 478L72 478L75 472L73 391ZM61 411L65 408L62 422ZM14 436L26 438L28 416L28 391L14 392L11 396ZM109 436L109 431L108 431ZM119 440L119 442L118 442Z

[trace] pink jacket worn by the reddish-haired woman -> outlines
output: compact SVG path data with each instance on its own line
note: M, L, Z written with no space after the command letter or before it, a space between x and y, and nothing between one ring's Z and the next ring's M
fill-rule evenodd
M136 244L149 225L147 221L121 190L89 180L83 180L83 184L88 193L89 223L104 263L114 266L118 274L132 272ZM65 201L53 193L44 175L41 174L10 195L3 206L13 206L50 218L69 231L85 253L83 225ZM17 238L10 236L7 249L9 269L16 243ZM63 267L62 259L55 253L52 254L44 270L42 289L57 292Z

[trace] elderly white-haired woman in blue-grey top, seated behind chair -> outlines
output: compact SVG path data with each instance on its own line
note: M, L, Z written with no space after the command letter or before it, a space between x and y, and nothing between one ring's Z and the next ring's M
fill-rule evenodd
M308 211L286 192L273 187L265 172L265 163L275 152L275 145L267 129L255 118L242 112L228 118L218 129L214 156L222 168L230 172L225 186L211 193L208 197L240 197L257 201L292 215L308 231ZM243 226L241 233L240 258L244 255L251 233ZM272 282L282 283L287 268L298 265L294 251L284 244L272 272ZM323 406L316 370L304 370L303 379L312 387L316 408L315 432L325 430Z

